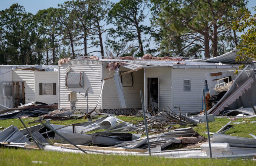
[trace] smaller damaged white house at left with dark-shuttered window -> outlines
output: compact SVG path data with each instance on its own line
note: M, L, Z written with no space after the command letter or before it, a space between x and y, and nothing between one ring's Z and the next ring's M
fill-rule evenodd
M58 66L0 65L0 104L58 103Z

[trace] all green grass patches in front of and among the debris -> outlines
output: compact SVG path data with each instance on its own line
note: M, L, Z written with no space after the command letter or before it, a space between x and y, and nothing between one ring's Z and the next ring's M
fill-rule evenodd
M142 120L142 118L135 118L129 116L117 116L117 118L133 122ZM34 123L28 125L28 122L34 121L37 118L23 119L24 123L29 127L37 125ZM226 118L215 118L216 121L209 123L210 132L218 131L223 125L229 122ZM52 124L66 125L78 122L85 122L87 120L68 120L68 121L51 121ZM249 134L256 135L256 118L247 118L245 120L239 119L236 122L240 124L233 124L234 127L227 131L225 134L233 136L241 136L252 138ZM19 129L24 128L19 119L1 120L0 127L6 128L10 125L16 125ZM175 127L180 127L175 125ZM198 124L193 127L199 134L207 137L204 132L207 131L206 124ZM101 130L102 131L102 130ZM94 131L95 132L95 131ZM32 163L32 161L42 161L46 163ZM59 153L59 152L46 152L25 149L0 149L0 165L256 165L253 160L229 160L229 159L167 159L159 157L144 157L144 156L112 156L112 155L85 155L75 153Z

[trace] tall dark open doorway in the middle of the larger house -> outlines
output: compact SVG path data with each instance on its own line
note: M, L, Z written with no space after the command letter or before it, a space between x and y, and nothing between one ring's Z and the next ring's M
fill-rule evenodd
M148 111L155 114L159 108L159 80L148 78Z

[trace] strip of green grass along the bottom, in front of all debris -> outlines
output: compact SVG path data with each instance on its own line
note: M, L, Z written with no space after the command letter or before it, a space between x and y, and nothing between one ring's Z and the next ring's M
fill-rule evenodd
M168 159L148 156L118 156L118 155L91 155L77 153L45 152L24 149L0 149L0 165L95 165L95 166L249 166L255 165L253 160L229 160L229 159ZM46 163L36 164L32 161Z

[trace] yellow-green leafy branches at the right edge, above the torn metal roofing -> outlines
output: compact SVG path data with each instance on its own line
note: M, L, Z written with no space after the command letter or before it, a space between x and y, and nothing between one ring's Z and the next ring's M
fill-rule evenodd
M253 9L256 11L256 6ZM252 15L250 11L246 11L244 17L233 25L234 30L245 31L241 35L241 44L237 46L240 51L237 52L239 56L237 56L236 61L250 63L251 59L256 58L256 14ZM240 68L244 68L244 65Z

